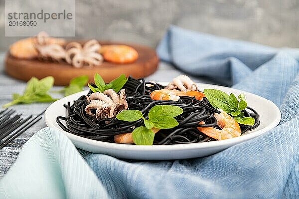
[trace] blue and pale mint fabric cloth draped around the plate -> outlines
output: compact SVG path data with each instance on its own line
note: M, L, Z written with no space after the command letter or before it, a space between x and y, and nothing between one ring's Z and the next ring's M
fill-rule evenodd
M273 101L282 112L279 126L208 157L152 162L78 152L62 133L45 128L0 181L0 198L299 198L298 50L172 26L157 51L187 73L231 79L235 88Z

